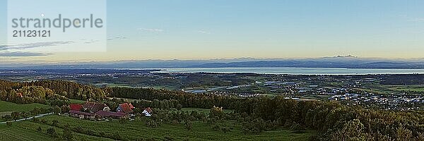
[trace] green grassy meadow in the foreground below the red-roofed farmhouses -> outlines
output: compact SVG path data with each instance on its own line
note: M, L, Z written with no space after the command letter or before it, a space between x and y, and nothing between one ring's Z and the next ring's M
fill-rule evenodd
M69 123L71 128L83 128L92 131L94 135L102 133L105 135L119 134L126 140L308 140L314 131L305 131L302 133L293 133L290 130L273 130L259 133L257 135L245 135L242 133L242 126L235 121L220 121L220 124L225 124L233 128L228 133L223 133L220 130L213 130L213 124L194 121L191 131L187 131L184 125L179 123L163 123L156 128L146 126L147 118L137 118L134 121L121 123L119 121L87 121L66 116L46 116L40 119L45 119L47 123L52 120L58 120L59 125ZM38 127L42 131L37 131ZM34 123L32 121L23 121L13 123L11 127L0 125L0 136L6 140L54 140L45 134L47 128L52 126L46 123ZM55 128L60 135L61 128ZM111 140L108 138L95 137L92 135L83 135L74 133L73 137L86 138L87 140ZM78 138L77 140L81 140Z

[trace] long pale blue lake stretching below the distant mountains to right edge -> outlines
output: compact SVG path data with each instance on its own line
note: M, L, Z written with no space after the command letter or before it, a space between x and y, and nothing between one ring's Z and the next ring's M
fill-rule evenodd
M163 68L157 73L266 73L292 75L424 74L424 69L383 68Z

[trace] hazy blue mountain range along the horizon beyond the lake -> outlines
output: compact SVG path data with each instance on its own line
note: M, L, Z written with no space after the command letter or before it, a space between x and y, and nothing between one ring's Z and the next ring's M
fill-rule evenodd
M293 68L424 68L424 59L364 59L356 56L334 56L316 59L211 59L211 60L144 60L86 63L0 63L0 68L13 69L95 69L95 68L228 68L228 67L293 67Z

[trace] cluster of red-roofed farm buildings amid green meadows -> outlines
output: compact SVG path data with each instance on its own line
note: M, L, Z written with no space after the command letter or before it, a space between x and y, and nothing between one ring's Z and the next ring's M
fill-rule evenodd
M105 120L107 118L122 119L134 117L134 107L131 103L119 104L116 110L110 109L107 104L98 102L86 102L85 104L70 104L69 115L71 117L90 120ZM150 117L153 110L150 107L143 109L143 116Z

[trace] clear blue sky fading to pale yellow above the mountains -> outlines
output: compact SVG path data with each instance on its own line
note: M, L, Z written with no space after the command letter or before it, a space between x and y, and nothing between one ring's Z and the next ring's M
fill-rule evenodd
M7 19L6 1L0 6ZM107 51L0 51L0 62L424 58L423 7L421 0L108 0ZM6 23L0 20L0 46Z

